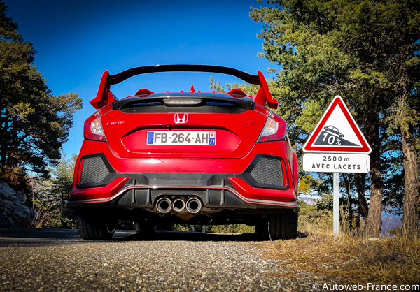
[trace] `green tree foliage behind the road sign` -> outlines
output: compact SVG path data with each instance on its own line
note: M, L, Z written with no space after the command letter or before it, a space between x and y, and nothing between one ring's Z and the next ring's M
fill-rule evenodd
M258 37L264 52L259 56L281 66L279 71L272 69L276 80L270 86L280 101L279 112L293 125L290 140L296 149L333 96L341 95L372 146L366 186L367 191L375 190L371 203L380 202L382 191L387 203L400 202L400 135L414 133L409 143L416 141L420 149L420 1L267 3L269 7L252 8L250 16L263 24ZM404 167L418 170L418 164Z

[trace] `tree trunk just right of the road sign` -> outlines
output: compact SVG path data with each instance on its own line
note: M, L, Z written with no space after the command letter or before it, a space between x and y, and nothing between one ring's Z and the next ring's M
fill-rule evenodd
M366 236L379 238L382 223L382 192L384 180L381 172L381 142L379 139L379 119L373 118L370 124L365 125L367 135L370 137L370 202L369 215L366 222Z

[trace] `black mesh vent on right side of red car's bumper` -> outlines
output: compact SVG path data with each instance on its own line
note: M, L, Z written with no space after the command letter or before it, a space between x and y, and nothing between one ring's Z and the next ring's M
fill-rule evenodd
M284 186L281 161L277 159L260 159L252 170L251 175L259 184L272 184L279 187Z

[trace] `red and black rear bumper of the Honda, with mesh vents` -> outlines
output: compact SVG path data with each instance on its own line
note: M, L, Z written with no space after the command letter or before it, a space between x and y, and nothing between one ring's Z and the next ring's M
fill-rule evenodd
M241 159L122 159L107 143L85 141L98 152L83 145L68 206L152 209L161 196L195 196L209 209L299 212L286 143L257 143Z

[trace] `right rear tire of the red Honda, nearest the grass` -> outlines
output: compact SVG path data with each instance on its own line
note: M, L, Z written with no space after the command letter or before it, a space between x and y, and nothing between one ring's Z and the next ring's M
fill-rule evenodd
M297 238L297 213L269 214L267 221L255 226L258 233L269 240L289 240Z

